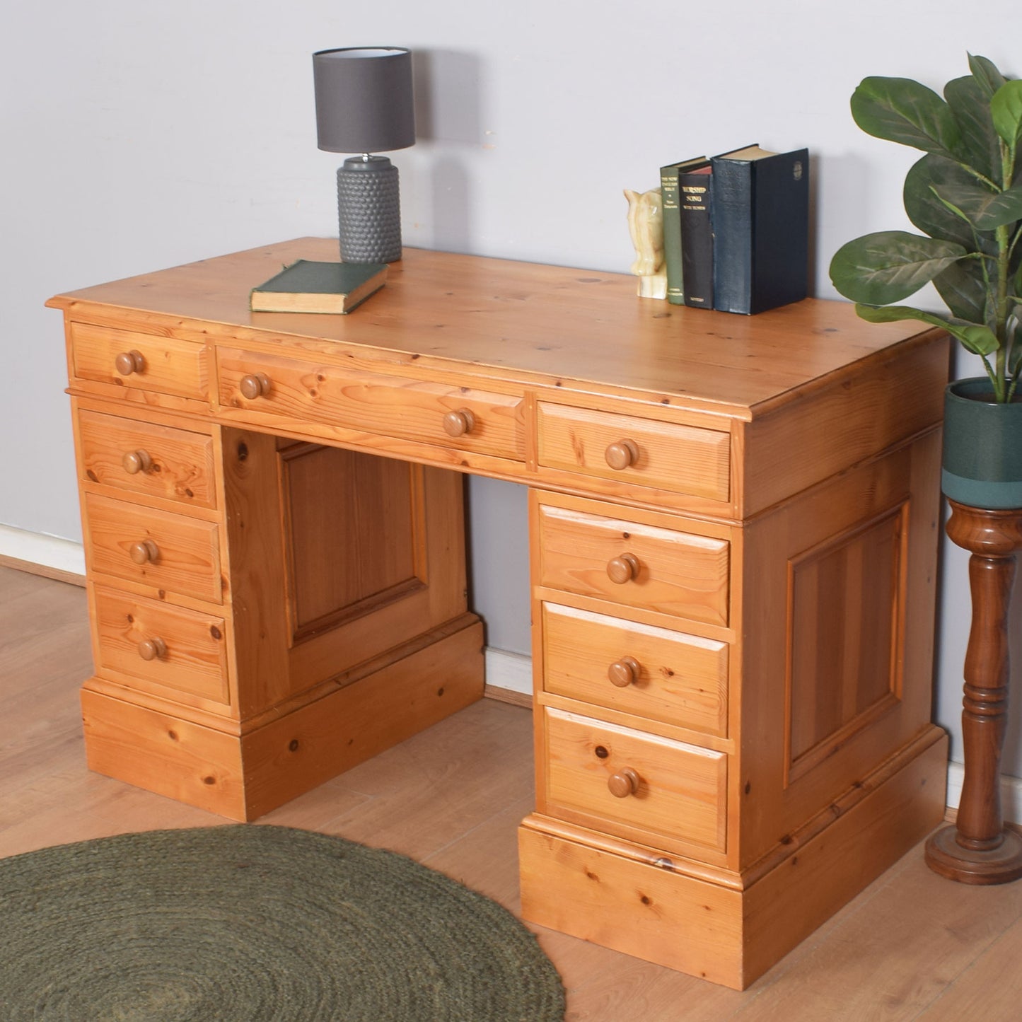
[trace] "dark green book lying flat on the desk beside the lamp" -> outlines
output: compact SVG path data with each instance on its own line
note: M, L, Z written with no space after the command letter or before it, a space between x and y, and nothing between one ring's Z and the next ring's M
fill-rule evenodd
M350 313L386 283L385 263L298 260L253 287L253 313Z

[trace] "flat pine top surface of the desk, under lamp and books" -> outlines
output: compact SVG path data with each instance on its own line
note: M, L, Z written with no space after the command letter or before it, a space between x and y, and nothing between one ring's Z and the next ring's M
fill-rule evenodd
M745 416L934 331L869 324L852 306L807 298L736 316L636 296L636 278L406 248L386 286L347 316L252 313L252 287L336 241L298 238L60 294L48 305L112 306L216 327L234 340L340 344L386 363L717 407ZM222 328L227 328L223 330ZM421 361L419 361L421 360ZM753 413L754 414L754 413Z

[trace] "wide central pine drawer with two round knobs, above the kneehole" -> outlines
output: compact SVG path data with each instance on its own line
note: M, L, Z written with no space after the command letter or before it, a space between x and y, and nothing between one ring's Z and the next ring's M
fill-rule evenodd
M218 374L228 408L524 458L521 400L512 394L230 349L218 353Z

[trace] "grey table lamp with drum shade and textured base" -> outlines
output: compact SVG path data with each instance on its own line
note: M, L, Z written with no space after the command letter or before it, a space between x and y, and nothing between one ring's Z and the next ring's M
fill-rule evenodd
M337 170L340 258L345 263L401 259L398 168L371 153L415 144L412 54L391 46L313 54L316 132L327 152L357 152Z

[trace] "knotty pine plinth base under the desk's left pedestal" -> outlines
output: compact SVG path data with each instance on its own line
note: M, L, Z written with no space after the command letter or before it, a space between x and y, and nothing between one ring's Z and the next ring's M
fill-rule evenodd
M474 615L403 659L324 692L251 730L224 730L137 701L93 678L82 690L89 769L248 821L481 698L482 625ZM233 727L233 732L227 730Z

